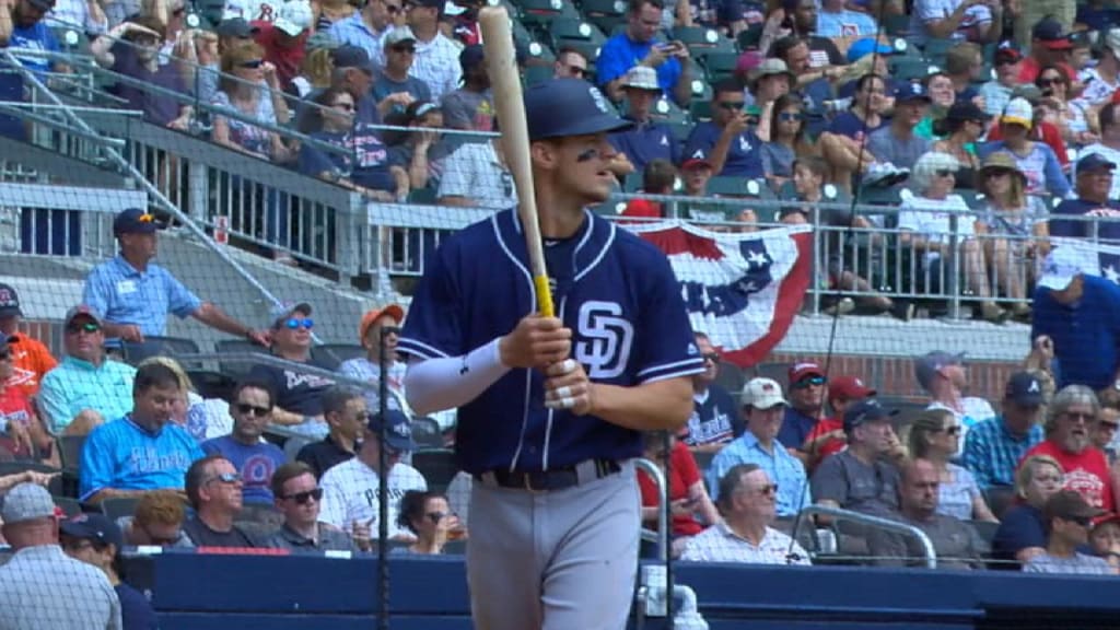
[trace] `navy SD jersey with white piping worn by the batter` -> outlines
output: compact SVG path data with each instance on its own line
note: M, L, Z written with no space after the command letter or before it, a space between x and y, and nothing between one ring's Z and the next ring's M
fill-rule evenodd
M635 386L703 371L680 286L652 244L587 212L571 239L545 243L557 316L572 358L596 382ZM445 241L421 280L398 350L457 356L512 331L536 311L521 224L513 211ZM511 370L459 409L456 453L469 473L542 470L591 457L636 457L636 432L544 407L544 378Z

